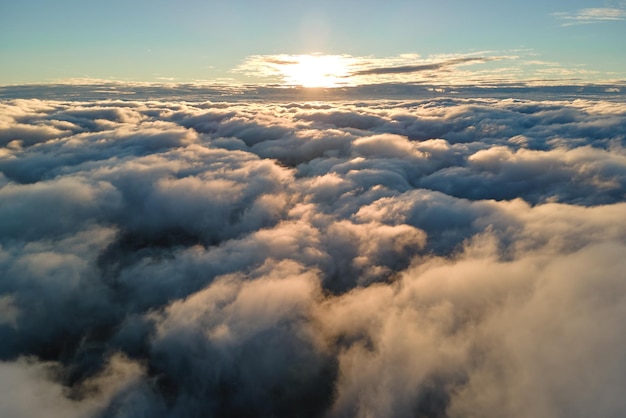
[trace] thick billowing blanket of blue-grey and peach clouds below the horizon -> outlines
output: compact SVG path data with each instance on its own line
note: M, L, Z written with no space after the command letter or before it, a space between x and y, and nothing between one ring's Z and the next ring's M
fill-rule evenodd
M626 400L626 106L0 102L0 415Z

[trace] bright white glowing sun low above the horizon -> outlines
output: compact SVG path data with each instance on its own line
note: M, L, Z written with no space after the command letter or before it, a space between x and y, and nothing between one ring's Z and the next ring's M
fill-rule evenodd
M280 66L286 85L340 87L349 84L349 59L342 55L295 55Z

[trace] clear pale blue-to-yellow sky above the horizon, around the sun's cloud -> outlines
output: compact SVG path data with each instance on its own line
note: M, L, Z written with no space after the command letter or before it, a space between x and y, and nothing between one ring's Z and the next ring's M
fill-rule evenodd
M623 82L624 39L624 1L5 1L0 84L281 82L255 66L311 53L370 70L473 57L488 60L464 68L484 77Z

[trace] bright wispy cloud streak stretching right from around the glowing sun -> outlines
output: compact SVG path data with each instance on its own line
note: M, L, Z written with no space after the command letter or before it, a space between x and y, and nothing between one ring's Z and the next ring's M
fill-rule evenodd
M494 86L511 83L585 84L603 76L586 68L564 67L538 60L532 51L478 51L422 57L401 54L389 57L352 55L252 55L233 73L253 83L284 87L355 87L373 84L410 83L441 86ZM546 75L550 75L546 78ZM555 78L556 77L556 78Z

